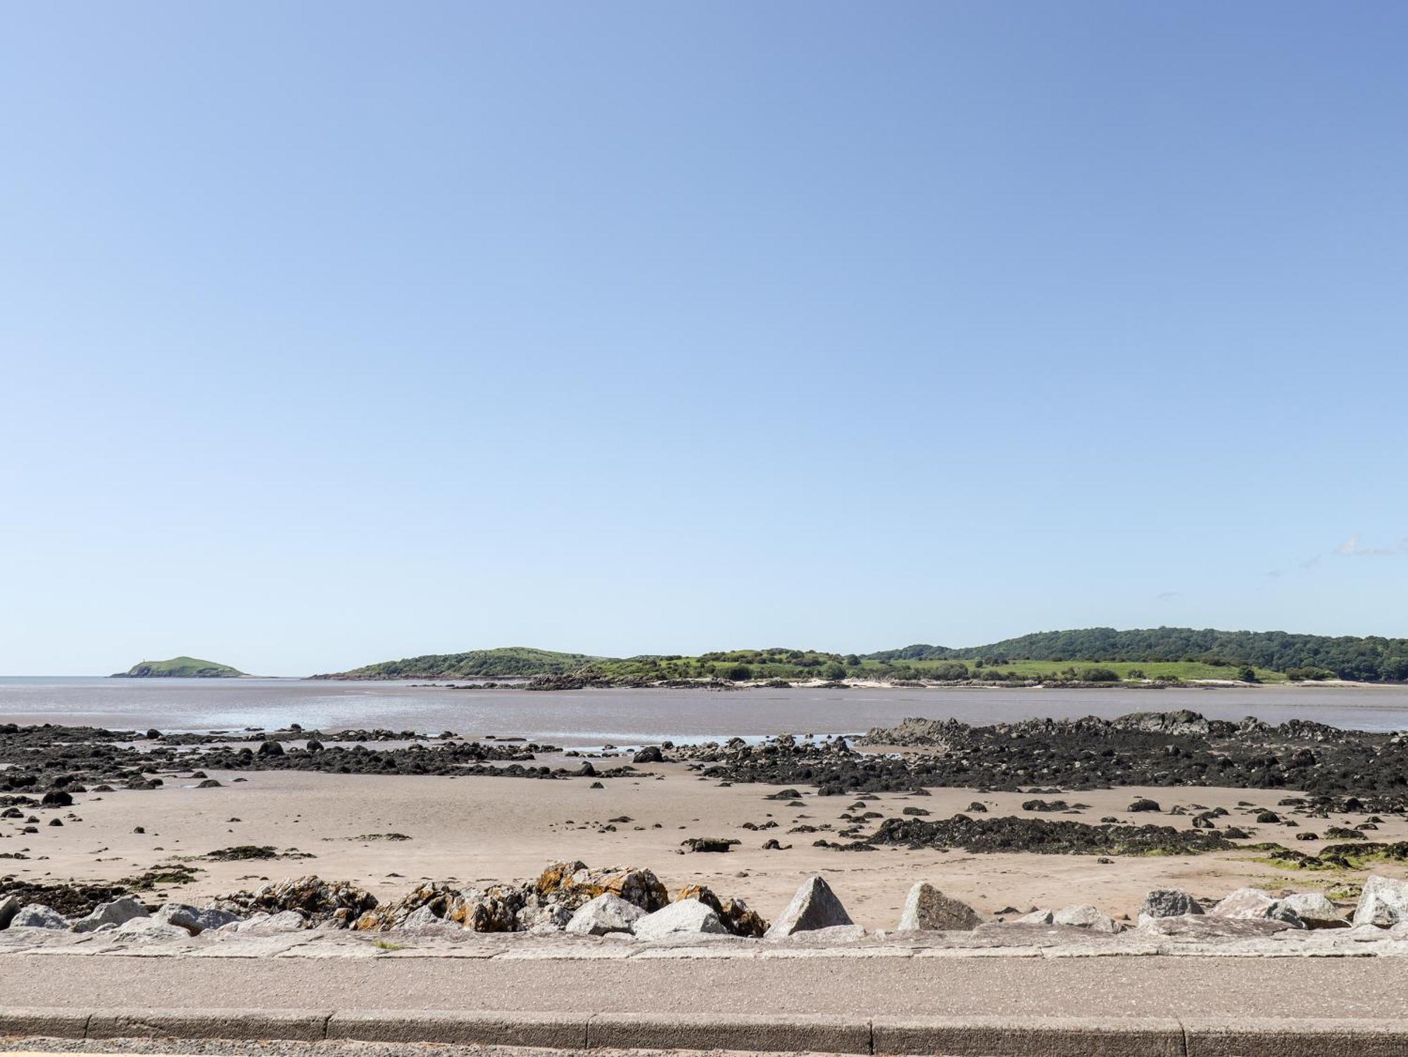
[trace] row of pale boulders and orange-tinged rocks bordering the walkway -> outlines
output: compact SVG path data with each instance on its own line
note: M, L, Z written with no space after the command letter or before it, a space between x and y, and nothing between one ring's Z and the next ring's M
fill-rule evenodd
M645 941L731 936L781 940L817 933L831 941L867 937L821 875L807 878L772 920L743 901L687 885L672 898L656 874L636 867L589 868L582 861L549 864L536 878L463 889L422 884L396 902L348 882L315 875L232 892L204 906L148 905L125 895L65 909L32 902L32 891L0 891L0 930L10 937L44 932L110 936L124 941L184 940L201 933L275 934L315 930L358 933L446 929L467 933L531 933L628 937ZM1286 930L1408 929L1408 881L1371 875L1353 905L1321 892L1240 888L1204 906L1181 889L1150 891L1133 922L1091 905L1028 908L984 917L928 882L915 884L894 927L897 933L973 932L988 925L1064 926L1118 934L1131 929L1198 939L1269 937ZM886 934L881 930L879 934Z

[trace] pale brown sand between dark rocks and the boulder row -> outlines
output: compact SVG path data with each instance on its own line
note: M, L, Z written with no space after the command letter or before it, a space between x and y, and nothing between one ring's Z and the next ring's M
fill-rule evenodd
M589 865L638 865L653 870L673 891L705 884L721 895L738 895L765 917L776 916L805 877L824 874L850 910L867 927L893 927L915 881L926 879L969 901L983 913L1007 906L1063 906L1094 903L1112 915L1133 915L1146 891L1177 886L1200 898L1218 898L1255 884L1297 891L1325 889L1366 874L1347 871L1287 871L1256 863L1255 853L1204 855L1115 857L1100 864L1094 855L967 854L960 850L911 851L881 847L846 853L812 847L818 837L836 840L849 823L839 815L855 796L817 796L803 788L801 808L765 799L779 786L719 786L701 781L684 765L642 768L660 775L605 779L536 781L520 778L369 777L307 771L211 772L218 789L180 788L179 779L152 791L79 793L72 809L42 812L65 819L62 827L39 826L21 834L20 823L0 822L0 853L24 851L28 860L0 860L0 874L21 881L118 879L161 863L189 858L199 879L159 889L153 899L200 902L224 892L256 886L263 879L318 874L346 879L380 899L394 899L421 879L458 881L466 886L487 881L535 877L553 860L580 858ZM248 781L234 782L244 777ZM193 786L190 782L189 786ZM1225 808L1221 822L1247 830L1255 841L1277 841L1316 853L1329 841L1298 841L1295 834L1328 826L1353 826L1363 815L1331 819L1298 817L1300 829L1256 824L1239 802L1276 809L1293 791L1224 788L1139 788L1062 793L1087 803L1079 815L1024 812L1031 793L976 793L972 789L932 789L929 796L884 793L866 810L886 817L905 806L922 808L934 819L962 812L983 801L990 815L1074 819L1098 823L1112 815L1135 824L1190 827L1190 816L1170 816L1174 805ZM1131 815L1138 796L1157 801L1163 813ZM1053 798L1046 798L1053 799ZM76 815L77 820L68 819ZM614 832L603 832L610 819ZM231 819L239 819L231 822ZM769 830L742 829L752 822ZM879 820L867 823L867 832ZM818 833L788 833L796 824L822 826ZM134 833L142 826L145 833ZM658 827L656 827L658 826ZM406 841L359 840L363 834L401 833ZM1408 820L1385 816L1373 840L1408 840ZM742 841L727 854L679 854L687 837L731 837ZM791 844L788 851L763 851L765 840ZM308 860L213 863L199 858L217 848L272 844L311 853ZM1408 875L1405 864L1384 864L1376 872ZM396 877L396 875L400 877Z

